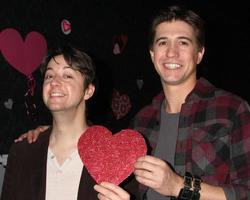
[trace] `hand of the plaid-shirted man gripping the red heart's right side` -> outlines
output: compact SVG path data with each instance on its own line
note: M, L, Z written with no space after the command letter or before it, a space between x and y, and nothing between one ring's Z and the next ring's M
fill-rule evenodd
M135 165L136 180L166 196L178 196L183 178L177 175L163 160L153 156L138 158Z

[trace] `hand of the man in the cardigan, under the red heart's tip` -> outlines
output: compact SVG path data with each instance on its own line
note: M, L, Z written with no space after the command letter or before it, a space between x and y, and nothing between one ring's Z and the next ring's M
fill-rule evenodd
M94 189L98 192L100 200L129 200L130 195L121 187L108 182L102 182L100 185L95 185Z

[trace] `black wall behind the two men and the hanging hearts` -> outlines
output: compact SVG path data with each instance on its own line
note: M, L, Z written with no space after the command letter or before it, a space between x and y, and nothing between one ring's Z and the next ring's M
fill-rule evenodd
M206 53L200 74L213 84L250 101L250 14L247 1L208 0L2 0L0 31L14 28L25 38L31 31L41 33L48 47L71 43L88 52L95 61L99 89L89 107L89 119L113 132L126 128L131 117L149 103L161 89L147 49L147 29L159 8L182 3L206 21ZM70 21L72 32L65 35L60 23ZM113 37L124 34L128 42L119 55L113 54ZM26 77L11 67L0 54L0 153L7 153L13 139L38 125L50 123L41 100L41 74L31 99L37 106L27 115L24 94ZM137 81L143 80L141 89ZM245 89L243 89L245 88ZM113 90L128 95L131 109L120 119L111 109ZM11 109L4 103L13 100Z

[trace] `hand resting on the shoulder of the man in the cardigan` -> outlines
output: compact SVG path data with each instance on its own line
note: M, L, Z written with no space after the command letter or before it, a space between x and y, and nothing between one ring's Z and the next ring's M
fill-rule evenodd
M15 142L20 142L24 139L27 139L29 143L35 142L39 136L39 134L46 129L48 129L49 126L38 126L35 129L29 130L28 132L22 134L19 136L19 138L15 139Z

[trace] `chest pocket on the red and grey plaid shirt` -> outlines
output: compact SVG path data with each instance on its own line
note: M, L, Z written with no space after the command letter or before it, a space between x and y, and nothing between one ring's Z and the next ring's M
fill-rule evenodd
M230 162L228 128L211 124L192 129L192 171L207 179L226 181Z

